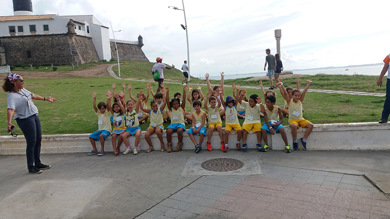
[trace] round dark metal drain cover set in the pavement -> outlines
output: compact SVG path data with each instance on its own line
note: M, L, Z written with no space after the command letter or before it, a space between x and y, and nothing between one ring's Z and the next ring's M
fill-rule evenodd
M205 161L201 164L203 169L215 172L228 172L240 169L244 166L239 160L231 158L216 158L212 160Z

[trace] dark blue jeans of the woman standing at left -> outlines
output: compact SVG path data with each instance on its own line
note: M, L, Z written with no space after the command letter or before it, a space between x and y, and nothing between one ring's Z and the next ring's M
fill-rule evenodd
M32 169L35 165L40 164L40 142L42 140L42 131L40 129L40 120L38 115L32 115L25 119L16 119L19 128L26 138L26 156L27 168Z

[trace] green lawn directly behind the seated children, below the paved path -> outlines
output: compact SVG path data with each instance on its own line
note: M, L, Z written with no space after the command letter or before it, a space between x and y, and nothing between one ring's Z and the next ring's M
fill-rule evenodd
M168 70L167 72L169 73ZM43 134L71 134L71 133L91 133L98 129L97 116L93 110L92 93L98 94L97 102L106 101L104 93L110 89L112 84L117 84L116 91L121 90L122 82L133 85L133 95L137 91L146 91L144 81L117 80L112 77L106 78L60 78L60 79L25 79L25 88L41 96L48 96L50 93L58 99L57 104L35 100L39 117L42 124ZM153 82L154 91L157 83ZM166 86L171 89L171 98L175 92L183 92L181 84L172 84L167 82ZM202 86L203 93L207 92L206 85ZM260 90L247 89L247 93L260 94ZM225 96L232 95L232 88L225 88ZM260 94L261 95L261 94ZM183 93L182 93L183 96ZM126 100L129 98L126 88ZM380 112L383 109L385 97L372 97L349 94L327 94L308 92L303 102L304 118L310 120L313 124L325 123L350 123L350 122L372 122L380 119ZM149 98L150 102L152 97ZM348 101L345 101L348 100ZM7 93L0 93L0 127L7 127ZM366 104L374 103L374 104ZM283 106L284 102L279 91L276 91L276 105ZM187 111L190 111L188 102ZM244 120L240 120L242 124ZM263 121L262 121L263 122ZM17 125L16 121L13 124ZM224 124L224 121L223 121ZM169 124L164 124L168 127ZM288 118L284 118L283 125L288 125ZM145 130L149 122L140 127ZM191 125L187 125L190 128ZM16 133L22 134L20 128ZM0 132L5 135L3 130Z

